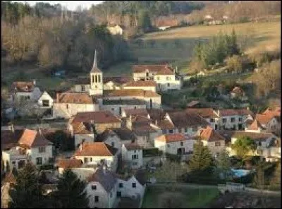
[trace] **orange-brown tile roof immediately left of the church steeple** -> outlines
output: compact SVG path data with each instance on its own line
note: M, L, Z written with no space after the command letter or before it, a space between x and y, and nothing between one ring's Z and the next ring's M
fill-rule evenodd
M63 92L58 94L59 103L74 103L74 104L95 104L97 100L90 97L87 93L74 93L74 92Z

